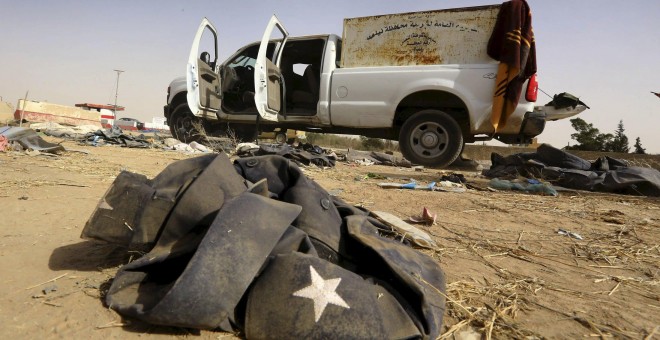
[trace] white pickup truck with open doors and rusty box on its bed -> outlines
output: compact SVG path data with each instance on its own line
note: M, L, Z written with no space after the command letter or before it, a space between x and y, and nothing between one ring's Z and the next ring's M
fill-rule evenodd
M546 121L584 107L535 107L534 76L495 132L490 112L498 64L486 45L498 9L345 19L341 38L289 37L273 16L260 42L222 63L217 30L204 18L186 77L168 88L165 117L184 142L198 138L200 127L243 138L257 129L353 134L398 140L408 160L428 166L451 164L464 143L529 143Z

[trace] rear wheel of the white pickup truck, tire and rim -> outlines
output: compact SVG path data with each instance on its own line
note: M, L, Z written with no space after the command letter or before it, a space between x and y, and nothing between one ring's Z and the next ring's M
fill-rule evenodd
M401 126L399 146L414 164L445 167L463 149L463 133L456 120L440 110L422 110Z

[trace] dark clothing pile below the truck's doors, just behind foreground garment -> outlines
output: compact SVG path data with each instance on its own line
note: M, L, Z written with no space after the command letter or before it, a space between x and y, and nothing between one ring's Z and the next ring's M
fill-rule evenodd
M316 165L320 167L334 167L336 156L327 154L324 149L309 143L298 144L293 147L289 144L252 143L239 144L236 155L239 157L253 157L265 155L278 155L290 159L298 165Z

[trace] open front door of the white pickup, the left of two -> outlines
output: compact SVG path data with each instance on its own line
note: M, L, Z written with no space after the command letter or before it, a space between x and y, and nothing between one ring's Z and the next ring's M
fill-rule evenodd
M218 31L206 18L202 19L193 40L186 70L187 101L190 111L218 111L222 90L218 72Z

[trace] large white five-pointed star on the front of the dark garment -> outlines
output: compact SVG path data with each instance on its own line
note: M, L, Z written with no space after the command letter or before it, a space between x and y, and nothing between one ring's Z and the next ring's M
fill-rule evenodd
M312 283L293 293L293 296L304 297L314 301L314 322L318 322L329 303L350 309L351 307L344 299L335 292L341 278L324 280L314 267L309 266L309 272L312 276Z

